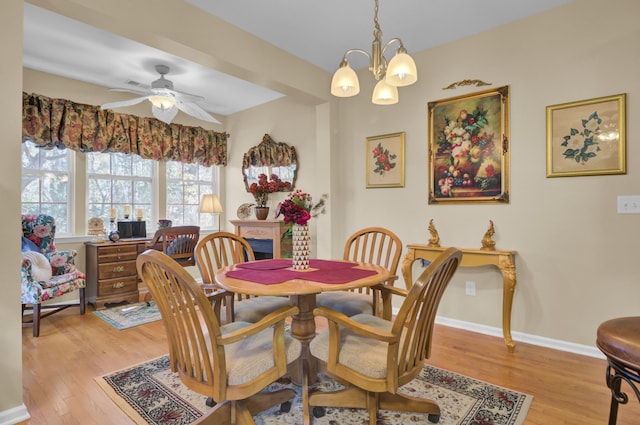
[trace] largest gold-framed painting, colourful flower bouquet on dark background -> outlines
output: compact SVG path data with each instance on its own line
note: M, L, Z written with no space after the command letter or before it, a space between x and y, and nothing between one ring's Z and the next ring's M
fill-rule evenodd
M429 102L429 204L509 202L509 87Z

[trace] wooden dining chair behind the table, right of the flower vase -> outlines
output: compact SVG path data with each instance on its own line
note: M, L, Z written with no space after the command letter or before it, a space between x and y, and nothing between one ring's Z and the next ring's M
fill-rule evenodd
M351 235L344 247L343 260L376 264L389 270L392 278L384 285L393 286L402 254L402 242L392 231L383 227L367 227ZM331 291L319 294L316 305L329 307L347 316L360 313L391 318L391 305L383 306L377 287Z

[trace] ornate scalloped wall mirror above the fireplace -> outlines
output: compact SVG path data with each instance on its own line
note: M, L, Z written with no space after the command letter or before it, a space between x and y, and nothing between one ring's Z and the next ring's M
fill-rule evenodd
M275 142L268 134L265 134L262 142L249 149L242 158L242 174L247 192L252 183L258 182L260 174L266 174L269 178L275 174L280 180L291 183L291 191L295 186L297 172L296 148L286 143Z

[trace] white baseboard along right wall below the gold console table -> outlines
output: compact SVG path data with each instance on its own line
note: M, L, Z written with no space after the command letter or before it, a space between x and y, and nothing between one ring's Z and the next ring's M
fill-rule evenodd
M471 332L477 332L484 335L496 336L503 338L502 328L493 326L480 325L478 323L464 322L462 320L449 319L446 317L436 316L436 323L452 328L464 329ZM523 332L511 332L514 341L525 342L527 344L538 345L541 347L553 348L555 350L567 351L569 353L581 354L583 356L596 357L604 359L605 356L595 346L575 344L573 342L562 341L559 339L546 338L543 336L530 335ZM517 349L517 346L516 346Z

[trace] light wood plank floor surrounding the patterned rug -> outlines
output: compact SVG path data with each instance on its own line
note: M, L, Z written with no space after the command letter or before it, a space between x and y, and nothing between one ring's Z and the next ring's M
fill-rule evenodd
M132 424L94 378L167 353L162 322L118 331L92 314L68 309L43 319L39 338L24 328L24 403L31 425ZM594 330L595 338L595 330ZM602 425L610 392L605 361L436 326L429 363L534 396L527 425ZM627 387L628 390L628 387ZM640 404L630 394L618 424L640 424Z

